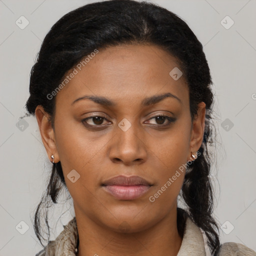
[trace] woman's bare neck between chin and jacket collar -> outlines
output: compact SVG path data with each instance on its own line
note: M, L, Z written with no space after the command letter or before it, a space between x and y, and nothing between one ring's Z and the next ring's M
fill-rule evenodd
M95 223L75 211L79 235L78 256L176 256L182 238L177 231L176 208L158 223L140 232L121 233Z

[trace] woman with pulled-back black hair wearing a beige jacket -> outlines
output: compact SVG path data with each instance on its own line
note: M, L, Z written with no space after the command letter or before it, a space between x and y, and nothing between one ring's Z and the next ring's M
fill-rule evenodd
M160 6L110 0L60 18L26 102L52 162L38 239L62 187L75 217L36 255L256 255L221 245L212 217L211 84L201 43Z

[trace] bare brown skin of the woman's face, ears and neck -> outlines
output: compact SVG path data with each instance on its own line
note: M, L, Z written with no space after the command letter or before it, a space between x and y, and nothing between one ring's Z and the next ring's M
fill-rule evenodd
M54 154L54 162L61 162L73 198L79 256L178 253L182 238L177 232L176 200L184 172L154 202L148 198L199 149L205 103L198 105L192 122L186 81L183 76L174 80L169 75L174 67L178 67L176 59L155 45L111 46L99 50L57 93L54 130L48 114L40 105L36 107L49 160ZM141 105L144 98L166 92L180 102L166 97ZM85 94L107 97L116 105L102 106L89 99L71 104ZM159 114L176 119L168 126L168 119L153 118ZM105 118L87 119L101 128L82 123L91 116ZM126 131L118 126L123 118L131 124ZM74 183L67 178L72 169L80 174ZM153 185L137 199L118 200L100 184L119 174L139 175ZM124 224L126 231L119 228Z

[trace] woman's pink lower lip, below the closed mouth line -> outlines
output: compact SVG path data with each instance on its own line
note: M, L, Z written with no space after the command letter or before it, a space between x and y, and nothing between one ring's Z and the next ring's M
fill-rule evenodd
M149 185L131 185L131 186L121 186L121 185L106 185L103 188L108 191L117 199L121 200L133 200L140 197L142 194L148 191Z

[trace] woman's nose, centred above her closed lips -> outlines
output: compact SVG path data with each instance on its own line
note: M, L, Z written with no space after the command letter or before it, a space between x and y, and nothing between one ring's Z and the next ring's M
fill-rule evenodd
M109 157L112 162L125 165L145 162L147 146L143 132L134 124L127 130L117 126L115 136L111 139Z

